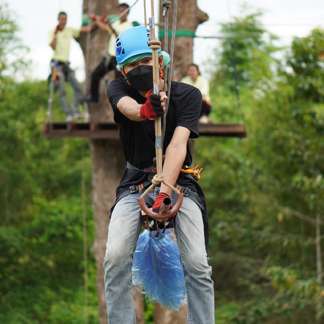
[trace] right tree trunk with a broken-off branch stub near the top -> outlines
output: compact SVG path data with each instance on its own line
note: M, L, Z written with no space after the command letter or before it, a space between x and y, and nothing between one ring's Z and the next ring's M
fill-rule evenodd
M173 21L173 3L168 13L169 29L172 30ZM160 7L160 29L164 28L164 17L162 17L163 8ZM208 20L206 13L197 6L197 0L188 0L185 6L179 6L177 9L177 30L190 30L195 32L198 25ZM161 49L165 49L164 37ZM168 37L168 53L171 49L171 37ZM179 80L186 75L187 65L192 63L193 37L176 37L174 44L173 69ZM194 156L194 142L190 141L190 149ZM184 324L187 322L187 305L179 308L179 312L155 304L154 323L155 324Z

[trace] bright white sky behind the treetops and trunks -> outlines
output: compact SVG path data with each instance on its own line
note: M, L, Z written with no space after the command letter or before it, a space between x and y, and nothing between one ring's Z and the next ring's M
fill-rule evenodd
M57 14L65 11L68 14L67 26L81 26L83 0L0 0L7 2L9 8L17 13L17 24L20 27L18 37L24 45L30 48L28 58L32 60L31 78L46 79L49 74L49 62L52 49L48 45L48 31L57 25ZM132 5L135 0L122 0ZM160 0L155 0L155 6L160 6ZM231 16L238 16L241 7L246 3L252 9L261 9L261 18L265 29L280 37L278 45L289 45L292 37L305 37L317 27L324 28L323 0L197 0L201 10L207 12L209 20L200 25L196 31L199 36L220 35L220 23L226 23ZM147 12L150 13L150 1L146 0ZM185 5L184 0L178 1L178 6ZM158 21L158 9L155 9ZM255 12L255 11L253 11ZM114 13L111 13L114 14ZM129 21L143 23L143 1L139 1L130 11ZM217 40L194 40L194 63L202 65L211 56L210 50L218 44ZM79 81L84 79L84 59L77 42L71 42L71 67L76 69ZM204 74L204 72L203 72Z

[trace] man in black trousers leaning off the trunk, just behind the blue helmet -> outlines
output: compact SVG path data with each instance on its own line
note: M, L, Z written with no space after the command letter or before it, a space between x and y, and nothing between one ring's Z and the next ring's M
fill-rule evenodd
M126 3L121 3L117 6L117 15L121 15L129 6ZM92 14L91 19L95 20L98 27L102 30L107 31L110 34L108 42L107 55L103 56L102 61L98 64L95 70L91 75L91 86L90 86L90 95L85 95L82 97L84 101L99 101L99 82L100 79L109 71L115 70L115 78L122 77L120 70L116 69L117 61L115 56L115 42L119 33L125 29L133 27L133 23L127 21L129 11L125 12L119 20L110 23L109 21L105 23L100 19L96 19L96 16Z

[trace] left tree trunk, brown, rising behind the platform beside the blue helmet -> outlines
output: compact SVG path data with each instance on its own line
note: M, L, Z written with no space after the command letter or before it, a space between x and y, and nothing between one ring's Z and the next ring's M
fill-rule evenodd
M83 12L88 13L88 3L84 0ZM92 0L91 12L102 16L115 14L118 0ZM79 43L85 55L86 66L86 90L89 93L91 73L100 62L101 53L107 48L109 40L108 33L96 29L91 33L81 34ZM87 42L90 47L87 49ZM109 73L110 80L114 72ZM91 122L112 121L113 112L106 96L106 78L103 77L99 87L99 103L89 104ZM107 324L107 307L104 287L103 260L106 250L108 235L110 207L116 199L116 188L121 179L126 161L122 154L120 140L89 140L91 160L92 160L92 207L95 219L95 241L91 252L95 256L97 263L96 287L98 293L99 323ZM136 320L139 324L144 324L144 304L143 296L134 289L134 305Z

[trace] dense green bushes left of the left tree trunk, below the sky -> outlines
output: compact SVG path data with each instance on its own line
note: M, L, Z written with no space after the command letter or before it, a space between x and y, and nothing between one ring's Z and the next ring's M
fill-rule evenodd
M80 323L84 321L83 171L88 191L87 240L94 239L89 148L85 140L41 137L48 95L45 81L6 79L4 85L0 322ZM89 323L97 323L96 265L89 251L88 259Z

